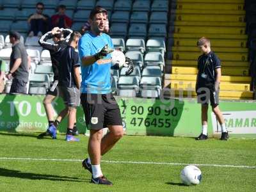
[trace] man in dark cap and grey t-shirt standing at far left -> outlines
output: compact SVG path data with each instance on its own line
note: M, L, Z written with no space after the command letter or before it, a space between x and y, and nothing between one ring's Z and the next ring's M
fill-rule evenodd
M10 93L27 93L26 85L30 68L30 57L20 43L20 34L17 31L10 31L10 43L12 44L12 54L10 56L10 70L6 75L7 79L12 79Z

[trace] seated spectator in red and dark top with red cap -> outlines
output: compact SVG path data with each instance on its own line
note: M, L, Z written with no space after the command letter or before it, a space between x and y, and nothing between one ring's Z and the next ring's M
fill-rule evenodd
M67 15L65 15L66 6L61 4L58 6L58 13L56 15L52 15L52 28L71 28L72 19L70 19Z

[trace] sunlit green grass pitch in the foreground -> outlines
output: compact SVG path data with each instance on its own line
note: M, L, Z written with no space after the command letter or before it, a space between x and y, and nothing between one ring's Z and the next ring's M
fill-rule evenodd
M256 191L256 140L124 136L102 157L102 172L114 185L98 186L81 166L88 137L79 138L67 143L60 134L37 140L0 132L0 191ZM182 185L179 163L199 164L202 182Z

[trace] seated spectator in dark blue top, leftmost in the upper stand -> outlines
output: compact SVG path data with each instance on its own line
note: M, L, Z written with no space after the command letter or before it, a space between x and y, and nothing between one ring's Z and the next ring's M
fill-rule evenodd
M49 16L43 14L44 3L36 3L36 13L29 15L28 23L30 26L28 36L42 36L49 29Z

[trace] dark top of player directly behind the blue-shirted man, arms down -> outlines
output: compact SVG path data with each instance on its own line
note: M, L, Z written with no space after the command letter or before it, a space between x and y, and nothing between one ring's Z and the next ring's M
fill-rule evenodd
M58 68L60 86L77 86L74 76L74 67L80 67L80 61L78 52L75 51L74 47L68 45L63 51L61 51L60 62L61 65Z

